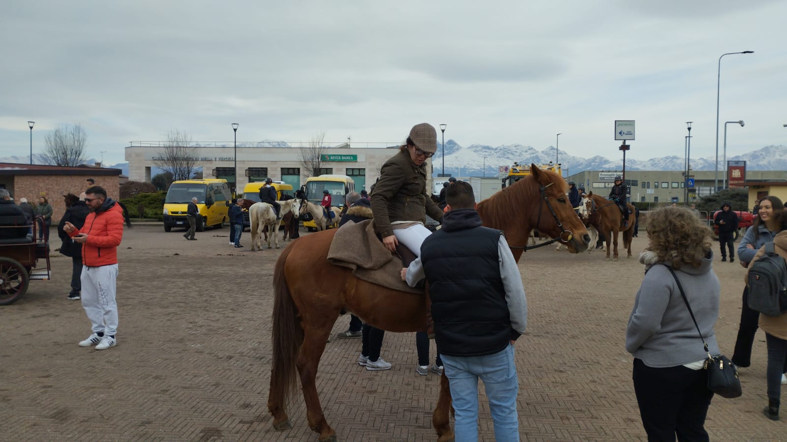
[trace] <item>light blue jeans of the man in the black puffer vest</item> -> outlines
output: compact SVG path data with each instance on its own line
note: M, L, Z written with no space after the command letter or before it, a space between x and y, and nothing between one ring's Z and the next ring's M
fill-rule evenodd
M449 378L455 411L456 442L478 441L478 378L484 381L486 397L498 442L519 441L516 396L519 381L514 365L514 346L484 356L441 355Z

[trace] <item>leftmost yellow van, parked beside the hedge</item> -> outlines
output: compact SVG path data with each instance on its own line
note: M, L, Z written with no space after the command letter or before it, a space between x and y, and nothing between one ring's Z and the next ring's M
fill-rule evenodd
M188 204L197 197L197 231L222 227L230 207L230 186L226 179L184 179L173 182L164 198L164 231L172 227L189 227Z

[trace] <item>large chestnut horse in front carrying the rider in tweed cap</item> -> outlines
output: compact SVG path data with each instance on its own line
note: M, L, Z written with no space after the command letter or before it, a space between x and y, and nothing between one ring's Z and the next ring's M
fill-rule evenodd
M531 167L533 175L519 180L478 204L485 226L504 230L517 260L530 230L561 238L572 252L589 245L589 235L566 201L566 182L559 175ZM351 311L364 322L393 332L423 331L426 311L422 294L398 292L364 282L326 256L336 230L324 230L293 241L276 261L273 285L273 363L268 410L275 429L292 428L286 400L296 389L296 368L303 387L306 417L320 441L335 441L320 398L316 374L326 341L338 316ZM432 425L439 441L453 440L449 425L451 396L442 376Z

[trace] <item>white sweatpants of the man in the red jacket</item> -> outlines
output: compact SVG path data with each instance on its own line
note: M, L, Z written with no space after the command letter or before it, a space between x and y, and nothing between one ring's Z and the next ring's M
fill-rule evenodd
M115 336L117 331L117 301L115 300L117 264L101 267L82 267L82 307L91 320L94 333Z

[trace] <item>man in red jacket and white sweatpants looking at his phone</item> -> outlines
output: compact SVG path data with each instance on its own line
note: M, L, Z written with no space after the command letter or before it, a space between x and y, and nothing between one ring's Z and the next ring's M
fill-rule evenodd
M85 190L91 212L80 229L65 223L63 230L82 245L82 307L91 320L93 333L79 342L80 347L106 350L117 344L117 246L123 239L123 209L106 190L92 186Z

